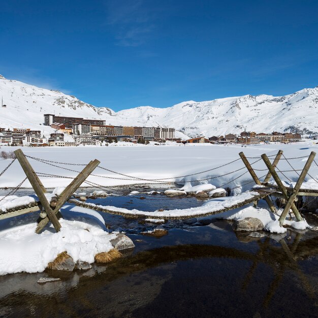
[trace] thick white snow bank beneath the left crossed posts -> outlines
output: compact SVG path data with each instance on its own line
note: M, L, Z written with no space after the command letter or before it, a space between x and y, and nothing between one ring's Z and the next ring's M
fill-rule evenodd
M74 208L77 212L88 212L103 219L94 211ZM63 213L63 212L62 212ZM83 214L84 217L84 214ZM94 262L94 256L112 249L111 239L100 226L85 220L60 219L61 230L56 233L53 226L40 235L35 233L37 223L24 224L0 232L0 275L18 272L43 272L49 262L67 251L74 262ZM18 224L18 223L17 223Z

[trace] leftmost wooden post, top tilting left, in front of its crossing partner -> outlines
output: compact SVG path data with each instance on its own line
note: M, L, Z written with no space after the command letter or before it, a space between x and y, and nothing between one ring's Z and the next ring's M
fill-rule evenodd
M51 209L50 204L44 195L44 190L43 190L44 186L43 186L42 182L41 181L39 182L38 176L36 175L35 171L31 167L28 160L26 159L22 150L21 149L15 150L14 153L15 153L25 175L27 176L32 187L34 188L36 195L38 196L39 200L41 201L41 204L42 204L45 212L47 213L48 219L52 222L56 232L58 232L61 228L61 225L59 224L59 221L58 221L55 213ZM46 192L46 190L45 190L45 192Z

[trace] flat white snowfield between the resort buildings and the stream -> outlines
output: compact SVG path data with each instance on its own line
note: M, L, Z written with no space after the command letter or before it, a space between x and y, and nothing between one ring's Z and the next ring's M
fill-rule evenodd
M15 147L2 147L1 150L15 150ZM181 146L143 146L143 147L47 147L47 148L28 148L23 147L22 150L26 155L39 157L44 160L50 160L55 162L71 163L71 164L87 164L91 160L97 158L101 164L100 166L112 171L120 172L126 175L134 176L139 179L131 179L126 176L118 175L101 168L97 168L93 174L96 176L90 176L89 181L104 185L124 185L134 183L145 183L147 181L143 179L161 179L158 180L162 183L177 180L180 185L185 182L192 182L191 185L200 183L211 183L216 187L237 187L251 180L246 169L239 170L229 175L225 175L219 178L211 180L202 180L207 178L224 175L229 172L243 168L244 165L241 160L238 160L232 164L223 166L229 162L239 159L238 153L243 151L247 157L258 157L263 153L268 156L275 155L279 149L284 151L286 157L302 157L308 156L311 151L317 152L318 145L312 141L303 142L292 145L282 144L270 144L270 145L250 145L246 148L242 148L240 145L181 145ZM271 157L272 158L272 157ZM250 163L257 161L257 158L249 159ZM10 163L11 160L0 160L0 172ZM49 173L60 176L75 177L76 172L80 171L83 166L69 166L55 164L55 166L61 166L70 170L63 170L55 166L47 165L42 162L38 162L29 158L31 165L34 167L37 173ZM305 165L306 157L291 160L290 163L295 169L302 169ZM318 158L316 160L318 162ZM266 166L262 160L252 165L255 169L265 169ZM213 168L215 170L211 170ZM278 168L280 170L291 170L291 167L285 160L279 162ZM194 174L201 171L207 171L204 173L196 174L188 177L181 177L184 175ZM244 175L242 175L246 172ZM267 171L257 171L259 177L266 174ZM313 163L309 171L313 178L318 178L318 167ZM235 181L231 181L236 177L242 175ZM285 172L284 175L292 181L297 181L298 175L295 172ZM0 178L0 187L14 187L18 185L25 175L16 161ZM166 179L171 178L171 179ZM289 183L290 181L284 176L281 176L282 180ZM309 176L306 177L306 181L310 180ZM41 177L46 187L66 186L69 184L70 179L61 178L44 178ZM196 180L202 180L195 182ZM154 183L154 181L148 181ZM315 181L309 181L311 187L318 188L318 183ZM186 183L188 186L189 184ZM250 188L253 184L247 184L242 188L236 188L233 193L238 194L246 189ZM87 185L86 185L87 186ZM305 185L304 185L305 186ZM28 181L25 181L23 187L30 187Z

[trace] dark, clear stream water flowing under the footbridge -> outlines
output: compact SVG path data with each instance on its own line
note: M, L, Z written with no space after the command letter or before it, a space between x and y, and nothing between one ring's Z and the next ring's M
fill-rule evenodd
M88 200L154 211L200 206L195 198L138 194ZM144 199L143 199L144 198ZM226 220L157 225L101 213L135 243L110 265L86 272L0 277L0 317L317 317L318 233L234 232ZM306 214L317 225L315 214ZM38 284L43 276L60 281Z

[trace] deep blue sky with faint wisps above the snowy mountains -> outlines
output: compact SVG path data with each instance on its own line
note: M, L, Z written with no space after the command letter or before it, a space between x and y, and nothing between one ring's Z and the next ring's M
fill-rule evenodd
M9 0L0 74L95 106L169 107L318 85L318 2Z

